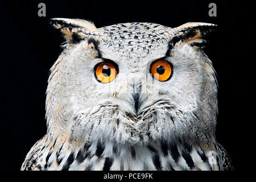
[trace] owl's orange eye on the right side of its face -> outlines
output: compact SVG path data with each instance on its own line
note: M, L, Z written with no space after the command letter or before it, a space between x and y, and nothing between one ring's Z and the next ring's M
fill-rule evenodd
M167 81L172 75L172 65L167 61L155 61L151 64L150 72L159 81Z

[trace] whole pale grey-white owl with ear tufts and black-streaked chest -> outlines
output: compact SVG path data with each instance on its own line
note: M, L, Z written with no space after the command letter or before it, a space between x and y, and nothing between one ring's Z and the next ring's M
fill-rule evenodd
M233 170L203 51L216 25L49 22L64 51L48 78L47 134L22 170Z

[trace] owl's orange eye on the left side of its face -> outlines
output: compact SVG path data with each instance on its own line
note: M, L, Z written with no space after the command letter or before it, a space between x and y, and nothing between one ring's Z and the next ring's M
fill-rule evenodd
M108 83L117 76L117 65L104 62L96 65L95 76L98 81Z

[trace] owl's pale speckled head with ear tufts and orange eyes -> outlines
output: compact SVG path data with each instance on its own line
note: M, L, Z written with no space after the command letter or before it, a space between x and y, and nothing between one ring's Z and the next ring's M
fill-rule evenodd
M202 49L214 24L50 23L65 43L48 79L49 138L130 145L214 140L217 81Z

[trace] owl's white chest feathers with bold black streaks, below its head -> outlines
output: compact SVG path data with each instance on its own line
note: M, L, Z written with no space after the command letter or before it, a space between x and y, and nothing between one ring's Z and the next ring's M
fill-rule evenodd
M45 155L46 156L46 155ZM48 152L44 170L212 170L201 147L148 145L122 146L85 144L65 152L65 144Z

